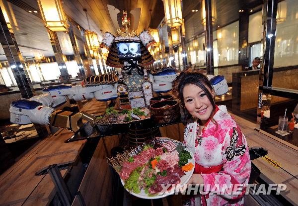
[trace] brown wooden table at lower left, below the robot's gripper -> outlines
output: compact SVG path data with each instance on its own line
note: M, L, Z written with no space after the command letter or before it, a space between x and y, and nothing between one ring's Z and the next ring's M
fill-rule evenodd
M102 113L105 103L92 100L80 109L89 113ZM49 165L74 163L86 140L64 143L73 132L59 129L35 145L27 154L0 176L0 206L46 206L52 201L56 190L50 174L35 173ZM61 171L63 177L69 168Z

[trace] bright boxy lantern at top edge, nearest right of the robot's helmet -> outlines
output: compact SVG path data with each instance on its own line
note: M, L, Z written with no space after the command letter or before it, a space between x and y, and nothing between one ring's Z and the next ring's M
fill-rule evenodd
M170 27L182 24L181 0L163 0L164 16Z

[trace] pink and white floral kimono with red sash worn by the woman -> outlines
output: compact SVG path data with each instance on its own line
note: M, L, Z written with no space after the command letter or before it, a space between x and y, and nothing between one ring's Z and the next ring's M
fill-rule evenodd
M193 151L195 173L202 174L207 193L194 196L187 205L242 206L251 169L246 139L224 105L216 106L213 119L207 121L201 134L197 134L196 121L184 130L184 143ZM242 187L237 188L237 184ZM238 193L231 195L229 189Z

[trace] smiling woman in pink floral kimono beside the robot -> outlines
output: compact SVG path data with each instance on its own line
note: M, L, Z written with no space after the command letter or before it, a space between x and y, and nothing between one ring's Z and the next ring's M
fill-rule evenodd
M207 193L194 196L186 205L243 205L245 187L235 186L247 184L250 175L245 136L226 107L215 104L214 89L205 75L181 73L174 87L186 115L195 119L184 130L184 143L195 157L195 172L188 184L203 184ZM230 189L238 194L230 194Z

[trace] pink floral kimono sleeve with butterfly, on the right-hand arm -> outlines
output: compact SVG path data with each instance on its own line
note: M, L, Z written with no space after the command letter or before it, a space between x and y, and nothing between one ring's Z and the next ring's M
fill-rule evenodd
M251 170L247 142L239 126L227 129L222 154L222 171L202 174L204 190L228 200L239 199L245 194Z

